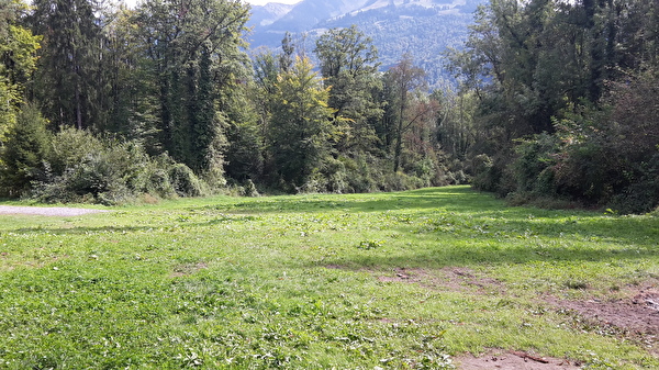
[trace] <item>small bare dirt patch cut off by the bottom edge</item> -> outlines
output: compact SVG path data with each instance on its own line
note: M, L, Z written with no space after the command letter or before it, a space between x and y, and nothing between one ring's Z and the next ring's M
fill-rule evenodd
M490 350L483 356L465 355L454 359L460 370L566 370L579 369L580 363L543 357L523 351Z

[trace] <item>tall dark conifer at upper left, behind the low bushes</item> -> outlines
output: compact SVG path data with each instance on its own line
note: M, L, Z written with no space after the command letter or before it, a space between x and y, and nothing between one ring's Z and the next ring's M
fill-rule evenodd
M102 34L89 0L35 0L33 32L44 36L34 94L57 126L93 127Z

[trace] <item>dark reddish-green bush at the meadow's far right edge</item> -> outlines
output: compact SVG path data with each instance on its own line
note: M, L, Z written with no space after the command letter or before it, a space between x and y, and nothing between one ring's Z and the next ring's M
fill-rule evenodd
M655 72L643 72L615 83L603 100L607 110L582 110L561 124L566 145L556 168L559 187L590 202L615 200L623 212L649 212L659 204L657 81Z

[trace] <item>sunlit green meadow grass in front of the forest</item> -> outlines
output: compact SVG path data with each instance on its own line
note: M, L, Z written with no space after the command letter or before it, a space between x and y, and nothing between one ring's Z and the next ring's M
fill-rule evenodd
M654 369L641 343L546 298L656 279L658 240L657 217L467 187L4 215L0 368L421 369L502 348ZM455 287L451 269L496 283Z

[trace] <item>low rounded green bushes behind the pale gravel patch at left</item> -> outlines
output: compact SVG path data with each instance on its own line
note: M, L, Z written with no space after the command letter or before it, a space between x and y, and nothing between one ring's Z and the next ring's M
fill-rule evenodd
M182 164L152 158L134 142L99 139L75 128L54 136L45 176L33 189L44 202L134 202L141 194L199 197L204 184Z

